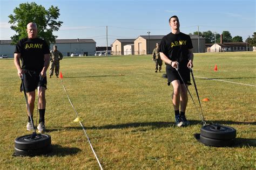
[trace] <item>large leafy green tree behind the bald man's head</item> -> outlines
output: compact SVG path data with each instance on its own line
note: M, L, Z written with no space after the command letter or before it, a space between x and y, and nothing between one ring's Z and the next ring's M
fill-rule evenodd
M46 10L42 5L37 5L35 2L19 4L19 7L14 9L14 15L9 15L11 29L16 31L16 34L11 37L12 44L28 37L26 25L30 22L37 24L39 38L44 39L48 45L55 43L57 36L53 35L53 31L58 31L63 23L57 21L59 15L57 6L50 6Z

